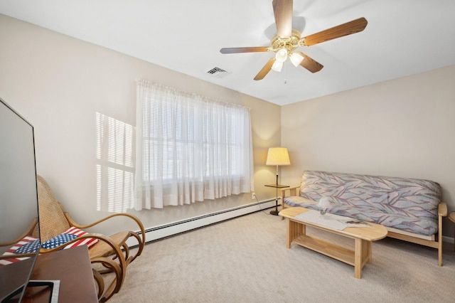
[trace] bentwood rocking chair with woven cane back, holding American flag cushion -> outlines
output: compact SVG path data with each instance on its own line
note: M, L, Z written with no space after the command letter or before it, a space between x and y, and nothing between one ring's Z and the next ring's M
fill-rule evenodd
M96 243L92 244L89 249L90 261L93 265L93 276L97 284L98 300L100 302L107 301L113 294L119 292L122 287L122 283L124 282L127 266L129 263L134 261L137 256L141 255L141 252L144 249L144 225L142 225L139 218L129 213L115 213L112 216L108 216L102 220L97 220L95 223L88 225L77 224L68 213L63 211L63 206L61 206L61 204L55 199L55 196L50 190L50 187L45 179L43 179L42 176L37 176L37 181L40 216L39 235L41 235L41 245L48 240L52 241L53 238L68 232L70 228L84 230L117 216L131 218L137 223L141 237L138 233L129 230L110 236L102 235L100 233L87 233L55 248L41 248L40 250L40 253L52 252L71 245L77 245L77 243L80 243L81 240L86 240L89 243L96 241ZM82 231L82 233L84 232ZM32 235L37 238L38 225L36 225ZM138 243L138 249L134 255L130 255L129 246L126 243L130 237L135 238ZM114 279L112 279L112 275L105 275L107 273L113 273ZM105 279L107 276L110 278Z

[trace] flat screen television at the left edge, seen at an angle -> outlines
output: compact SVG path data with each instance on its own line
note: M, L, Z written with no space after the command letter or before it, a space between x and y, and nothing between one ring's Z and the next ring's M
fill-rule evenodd
M23 243L16 245L14 240L33 220L38 220L33 126L0 98L0 243L13 242L0 246L0 302L22 300L40 242L25 257L9 254Z

